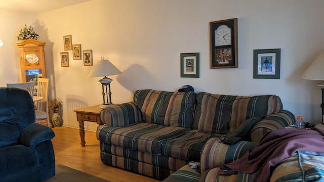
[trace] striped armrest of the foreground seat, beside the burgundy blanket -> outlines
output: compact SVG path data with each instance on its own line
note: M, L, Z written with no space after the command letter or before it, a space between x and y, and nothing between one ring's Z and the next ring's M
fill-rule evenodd
M243 156L247 151L254 149L257 145L257 143L247 141L239 141L234 145L226 145L219 143L218 139L211 138L205 144L200 160L201 173L205 170L232 162Z

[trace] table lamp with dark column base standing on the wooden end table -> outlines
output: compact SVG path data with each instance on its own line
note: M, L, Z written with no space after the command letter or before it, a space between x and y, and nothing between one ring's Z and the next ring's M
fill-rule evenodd
M90 71L88 78L93 77L101 77L104 76L102 79L99 80L99 82L102 84L102 99L103 103L100 108L105 108L112 104L111 102L111 92L110 92L110 82L112 79L107 78L107 76L111 75L117 75L121 74L121 71L119 71L112 63L110 63L109 60L104 60L104 57L101 57L101 60L97 61L96 64L93 66L93 69ZM108 86L108 90L107 90ZM109 101L108 101L108 95L109 95Z

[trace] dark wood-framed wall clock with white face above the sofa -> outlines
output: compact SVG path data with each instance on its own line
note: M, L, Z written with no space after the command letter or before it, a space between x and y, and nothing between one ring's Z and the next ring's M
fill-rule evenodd
M237 18L210 22L210 67L238 67Z

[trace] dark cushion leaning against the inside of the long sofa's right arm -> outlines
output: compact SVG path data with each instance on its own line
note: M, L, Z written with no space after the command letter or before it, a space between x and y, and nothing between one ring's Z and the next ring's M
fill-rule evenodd
M237 136L242 138L243 141L249 141L249 133L252 129L252 127L259 121L261 121L264 118L264 116L257 116L252 117L244 122L242 122L237 128L235 128L233 131L226 134L226 138L229 139L231 137Z

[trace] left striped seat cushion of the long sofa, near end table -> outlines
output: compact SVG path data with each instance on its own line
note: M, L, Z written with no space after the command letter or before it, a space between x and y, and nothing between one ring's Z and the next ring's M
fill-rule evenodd
M161 142L178 138L189 128L165 126L149 122L136 122L127 126L100 125L97 138L108 144L151 154L161 154Z

